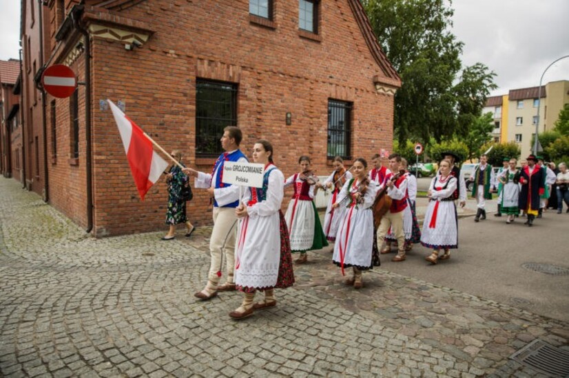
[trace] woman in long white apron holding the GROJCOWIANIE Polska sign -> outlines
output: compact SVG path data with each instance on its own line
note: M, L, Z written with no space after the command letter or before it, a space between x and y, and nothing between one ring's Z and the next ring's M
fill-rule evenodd
M273 289L294 283L289 230L280 210L285 176L273 164L273 146L267 140L254 145L253 160L265 164L265 174L262 188L246 189L236 208L239 227L235 282L244 298L240 307L229 313L234 319L276 306ZM265 291L265 299L254 304L257 290Z

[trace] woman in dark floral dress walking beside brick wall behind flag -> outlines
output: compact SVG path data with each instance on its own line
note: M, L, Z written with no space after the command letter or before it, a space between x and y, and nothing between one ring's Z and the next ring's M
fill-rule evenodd
M180 151L172 151L172 157L181 164L182 154ZM186 201L182 198L182 190L188 183L188 177L182 172L182 168L173 165L166 174L168 184L168 208L166 210L166 224L170 226L168 233L162 240L172 240L176 234L176 225L185 223L186 236L192 236L194 226L189 223L186 214Z

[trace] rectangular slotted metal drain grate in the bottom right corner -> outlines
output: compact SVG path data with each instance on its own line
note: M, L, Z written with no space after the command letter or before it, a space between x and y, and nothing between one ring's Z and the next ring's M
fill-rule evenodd
M563 351L543 340L533 340L511 355L510 359L549 377L561 378L569 375L569 351Z

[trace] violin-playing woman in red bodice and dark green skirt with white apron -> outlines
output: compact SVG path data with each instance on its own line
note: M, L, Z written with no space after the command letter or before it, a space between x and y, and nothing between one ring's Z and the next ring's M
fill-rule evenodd
M328 245L328 241L313 202L317 178L310 170L310 158L301 156L298 164L301 172L285 181L285 188L293 186L294 189L285 219L289 227L292 252L300 253L295 263L304 264L307 262L307 251L322 249Z

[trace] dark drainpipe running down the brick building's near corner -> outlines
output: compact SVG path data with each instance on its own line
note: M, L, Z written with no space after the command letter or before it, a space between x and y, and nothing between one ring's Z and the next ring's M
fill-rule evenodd
M83 13L83 1L79 5L78 12L72 14L75 27L83 36L85 36L85 168L87 170L87 230L90 233L93 230L93 173L92 173L92 156L91 156L91 39L89 32L81 26L79 19Z

